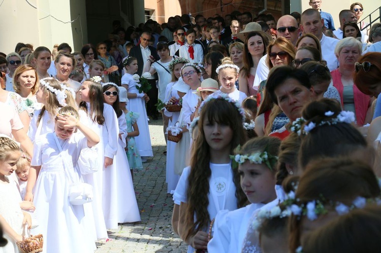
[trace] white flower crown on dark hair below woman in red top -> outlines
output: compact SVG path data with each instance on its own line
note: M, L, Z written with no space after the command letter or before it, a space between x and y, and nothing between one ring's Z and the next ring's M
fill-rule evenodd
M328 111L325 112L324 115L327 117L333 116L335 113ZM335 118L330 118L326 121L321 121L319 124L316 125L316 123L310 121L308 124L306 123L306 120L303 118L296 119L290 128L291 131L296 132L298 135L301 134L308 134L312 129L315 127L323 126L323 125L335 125L337 123L348 123L351 124L352 122L355 122L355 114L350 111L341 111ZM304 127L302 127L302 124L305 123Z

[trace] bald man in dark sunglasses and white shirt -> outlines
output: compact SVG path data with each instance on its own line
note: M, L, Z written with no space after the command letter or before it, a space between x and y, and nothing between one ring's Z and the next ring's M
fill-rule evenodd
M284 37L289 40L294 46L299 39L300 28L298 22L293 16L284 15L278 19L276 23L277 34L276 37ZM254 79L253 87L258 87L263 80L267 79L269 75L269 67L266 64L267 54L264 55L258 63L256 77ZM256 89L256 88L255 88Z

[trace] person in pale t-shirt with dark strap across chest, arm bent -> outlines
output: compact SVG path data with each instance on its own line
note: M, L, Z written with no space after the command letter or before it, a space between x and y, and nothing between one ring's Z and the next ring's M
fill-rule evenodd
M173 56L169 55L169 48L166 42L157 43L157 54L160 60L156 61L153 56L150 56L148 61L144 64L143 73L149 72L149 74L154 75L157 73L158 76L158 99L161 101L165 100L165 92L167 85L171 82L172 75L169 71L169 63L172 61ZM163 116L163 129L164 133L167 131L169 117L164 114L164 109L161 111ZM165 140L167 142L167 135L164 134Z

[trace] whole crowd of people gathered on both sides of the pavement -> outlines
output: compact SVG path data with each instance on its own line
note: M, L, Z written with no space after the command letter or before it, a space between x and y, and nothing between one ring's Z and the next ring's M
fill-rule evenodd
M0 53L0 252L28 229L44 252L93 252L140 221L134 171L159 114L188 252L376 252L381 26L363 29L361 3L336 29L310 6L114 21L81 51Z

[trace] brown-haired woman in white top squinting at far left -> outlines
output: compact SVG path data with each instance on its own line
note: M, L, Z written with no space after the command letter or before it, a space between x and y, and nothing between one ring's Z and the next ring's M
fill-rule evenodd
M35 111L41 109L37 102L36 92L39 89L37 70L29 64L19 66L13 75L13 87L25 103L25 110L32 118Z

